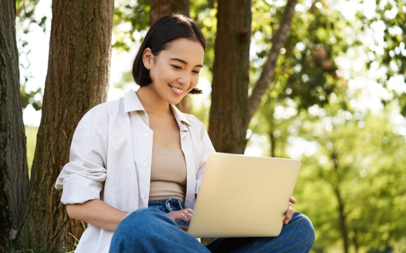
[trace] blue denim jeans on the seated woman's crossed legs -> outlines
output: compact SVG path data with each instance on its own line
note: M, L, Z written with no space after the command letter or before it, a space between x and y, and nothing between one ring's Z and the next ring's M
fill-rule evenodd
M110 252L309 252L314 243L309 218L294 213L277 237L219 238L203 245L178 228L166 214L182 209L182 201L153 200L148 205L149 208L132 212L118 225Z

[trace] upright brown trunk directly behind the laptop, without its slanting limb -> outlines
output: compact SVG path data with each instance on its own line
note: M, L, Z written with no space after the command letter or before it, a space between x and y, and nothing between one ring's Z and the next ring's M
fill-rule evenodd
M218 2L209 135L218 152L244 153L248 128L251 1Z

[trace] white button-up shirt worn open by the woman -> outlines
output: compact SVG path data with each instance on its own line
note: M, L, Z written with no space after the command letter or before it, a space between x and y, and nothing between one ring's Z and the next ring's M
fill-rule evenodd
M193 208L214 148L196 117L171 107L186 159L185 208ZM126 212L148 207L152 137L148 115L132 90L90 109L75 130L69 162L56 180L56 189L63 188L61 202L101 199ZM113 233L89 224L75 252L108 252Z

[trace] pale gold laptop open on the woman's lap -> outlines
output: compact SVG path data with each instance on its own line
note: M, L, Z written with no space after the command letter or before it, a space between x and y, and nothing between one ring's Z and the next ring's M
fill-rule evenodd
M188 233L194 237L279 235L300 164L293 159L212 154Z

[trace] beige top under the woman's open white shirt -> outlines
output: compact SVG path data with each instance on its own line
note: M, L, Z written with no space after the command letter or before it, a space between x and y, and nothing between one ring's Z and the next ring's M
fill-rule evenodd
M149 200L185 201L186 160L181 149L152 148Z

